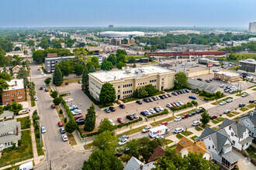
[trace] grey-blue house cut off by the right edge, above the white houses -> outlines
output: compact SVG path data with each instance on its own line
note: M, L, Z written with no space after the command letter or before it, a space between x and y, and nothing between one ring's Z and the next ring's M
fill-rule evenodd
M239 117L239 121L249 129L249 135L256 139L256 109L251 111L249 114Z

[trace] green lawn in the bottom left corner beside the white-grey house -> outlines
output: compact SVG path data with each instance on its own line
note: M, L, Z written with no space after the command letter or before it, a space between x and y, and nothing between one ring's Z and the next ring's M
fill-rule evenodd
M33 158L30 130L21 132L21 145L0 158L0 167Z

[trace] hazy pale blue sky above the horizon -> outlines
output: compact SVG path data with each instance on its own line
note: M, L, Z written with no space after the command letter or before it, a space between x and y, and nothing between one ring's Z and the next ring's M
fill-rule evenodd
M256 0L0 0L0 27L248 27Z

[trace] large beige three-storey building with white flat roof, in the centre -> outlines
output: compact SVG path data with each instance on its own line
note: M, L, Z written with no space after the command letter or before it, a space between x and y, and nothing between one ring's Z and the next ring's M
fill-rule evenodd
M157 90L174 87L175 72L160 66L89 73L89 91L96 100L104 83L112 83L116 99L131 97L134 90L152 84Z

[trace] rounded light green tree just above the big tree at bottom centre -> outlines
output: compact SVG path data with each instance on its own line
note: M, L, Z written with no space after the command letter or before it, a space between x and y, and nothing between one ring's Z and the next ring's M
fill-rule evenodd
M117 146L117 141L115 135L111 131L103 131L92 141L93 148L115 151Z

